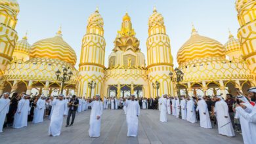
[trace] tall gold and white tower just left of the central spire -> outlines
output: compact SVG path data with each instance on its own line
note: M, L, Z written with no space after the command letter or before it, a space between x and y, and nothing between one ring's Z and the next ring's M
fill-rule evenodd
M88 19L87 31L82 40L81 58L79 63L78 96L95 96L103 94L105 39L103 19L98 9ZM95 88L89 88L89 82Z

